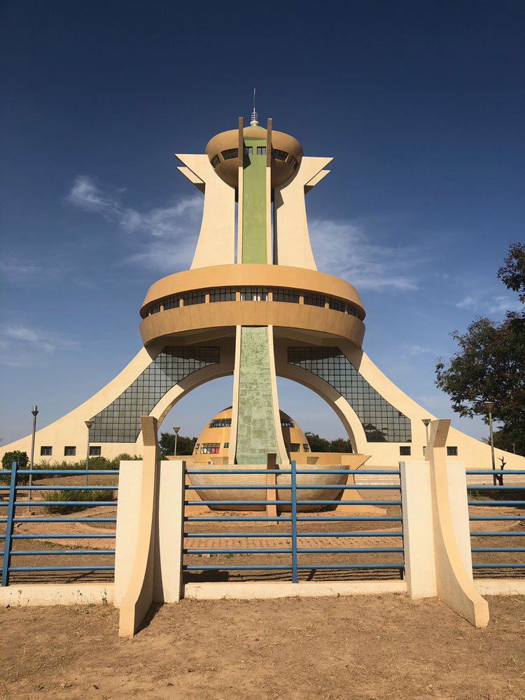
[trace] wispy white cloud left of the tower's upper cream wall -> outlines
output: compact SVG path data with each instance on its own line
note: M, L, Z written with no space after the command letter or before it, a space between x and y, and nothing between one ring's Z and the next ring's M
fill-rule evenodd
M79 175L66 200L86 211L102 214L130 234L130 245L138 249L123 262L157 269L174 269L187 264L195 248L195 238L191 234L198 232L202 218L202 197L185 197L165 207L141 212L125 207L120 201L118 195L124 191L120 190L117 195L106 194L92 178ZM144 237L139 240L138 234L153 237L153 241L144 240Z

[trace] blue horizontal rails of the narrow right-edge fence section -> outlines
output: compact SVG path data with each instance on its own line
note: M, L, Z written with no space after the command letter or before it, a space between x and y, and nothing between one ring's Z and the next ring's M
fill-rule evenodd
M467 470L468 475L478 475L485 476L487 479L496 480L496 475L501 475L504 478L512 477L514 475L525 475L525 470L503 470L503 469L469 469ZM524 491L525 484L493 484L487 486L486 484L472 485L468 484L467 491L490 491L496 492L496 494L505 492L516 492ZM479 506L479 507L525 507L525 500L507 500L505 498L496 498L494 500L468 500L468 505ZM474 521L510 521L510 522L522 522L525 521L525 515L470 515L469 520ZM488 530L488 531L471 531L470 538L485 538L485 537L498 537L498 538L515 538L515 537L525 537L525 532L506 532L505 530ZM512 540L510 540L512 542ZM525 557L519 556L525 554L525 547L483 547L475 546L475 540L471 540L472 554L512 554L513 561L474 561L472 563L472 569L475 570L500 570L501 572L508 569L523 569L525 568Z

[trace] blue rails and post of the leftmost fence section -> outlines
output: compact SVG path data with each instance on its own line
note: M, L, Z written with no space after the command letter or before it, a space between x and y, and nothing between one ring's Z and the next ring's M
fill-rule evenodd
M6 473L6 470L3 470ZM9 474L9 472L7 472ZM56 564L51 564L49 566L11 566L12 557L20 556L38 556L38 557L48 557L55 559L57 556L114 556L115 549L13 549L13 544L20 540L65 540L66 545L67 540L108 540L115 539L115 533L63 533L63 532L53 532L52 526L62 523L76 523L76 524L95 524L95 523L116 523L116 517L74 517L69 515L68 517L54 517L52 515L46 516L21 516L16 514L16 509L20 507L31 507L33 509L40 509L42 507L116 507L116 500L19 500L20 496L29 490L38 492L48 492L53 491L87 491L87 493L93 491L107 491L108 494L111 492L118 492L118 486L61 486L60 484L50 484L46 486L33 485L31 484L31 489L29 486L22 485L18 483L20 475L33 475L34 477L47 477L48 475L58 475L58 476L81 476L81 475L118 475L118 470L77 470L77 469L46 469L43 470L29 470L29 469L18 469L18 463L13 462L10 470L10 484L9 486L1 486L0 491L8 491L8 500L6 502L0 503L0 506L7 508L6 517L0 518L0 523L5 524L5 533L0 534L0 540L3 540L3 548L0 551L0 556L2 556L1 563L1 585L7 586L9 584L10 574L14 572L25 572L25 573L36 573L36 572L66 572L66 571L78 571L78 572L95 572L95 571L114 571L115 567L110 564L101 564L97 561L92 563L69 563L67 566L59 566ZM45 494L44 498L45 498ZM4 511L5 512L5 511ZM14 528L16 524L48 524L48 531L45 533L15 533ZM37 544L38 546L38 544ZM2 553L3 552L3 553Z

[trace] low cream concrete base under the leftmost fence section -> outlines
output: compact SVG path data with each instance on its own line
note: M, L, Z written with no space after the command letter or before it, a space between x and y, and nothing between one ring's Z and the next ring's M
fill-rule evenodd
M64 583L58 586L12 585L0 588L0 606L113 604L112 583Z

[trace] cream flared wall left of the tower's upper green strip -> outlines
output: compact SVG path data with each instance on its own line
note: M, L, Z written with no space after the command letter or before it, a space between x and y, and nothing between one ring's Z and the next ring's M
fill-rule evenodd
M207 155L177 155L179 171L198 189L204 185L204 210L191 268L235 262L235 190L217 177ZM195 177L191 176L194 174Z

